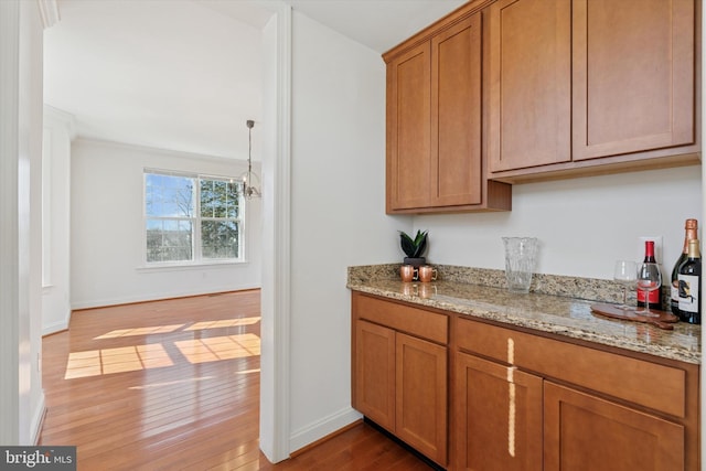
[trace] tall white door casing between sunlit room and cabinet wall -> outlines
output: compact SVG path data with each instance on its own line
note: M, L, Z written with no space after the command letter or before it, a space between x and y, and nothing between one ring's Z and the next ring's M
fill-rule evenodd
M263 345L260 356L260 449L268 460L279 462L290 452L290 308L291 308L291 6L276 3L274 20L275 51L271 58L271 108L266 121L271 122L269 139L274 141L271 169L263 174L263 215L271 227L264 239L271 247L264 250ZM270 23L271 24L271 23ZM270 57L275 54L275 57ZM268 74L268 78L269 74ZM268 159L268 162L270 160ZM269 182L269 184L268 184ZM271 249L271 254L267 254Z

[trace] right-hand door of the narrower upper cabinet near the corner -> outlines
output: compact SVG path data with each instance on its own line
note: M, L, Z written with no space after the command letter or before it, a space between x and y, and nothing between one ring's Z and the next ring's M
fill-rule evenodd
M481 14L431 39L431 205L482 203Z

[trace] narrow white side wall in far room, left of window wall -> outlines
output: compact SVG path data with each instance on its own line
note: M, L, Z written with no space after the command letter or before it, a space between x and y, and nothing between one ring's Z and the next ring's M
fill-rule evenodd
M73 116L44 107L42 157L42 334L68 328L71 317L69 194Z

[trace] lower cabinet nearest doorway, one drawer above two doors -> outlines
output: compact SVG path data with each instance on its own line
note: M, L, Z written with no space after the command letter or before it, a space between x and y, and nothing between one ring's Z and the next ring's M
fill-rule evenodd
M367 297L355 299L360 302L354 312L361 315L354 315L353 407L446 465L447 317ZM405 317L410 318L408 327Z

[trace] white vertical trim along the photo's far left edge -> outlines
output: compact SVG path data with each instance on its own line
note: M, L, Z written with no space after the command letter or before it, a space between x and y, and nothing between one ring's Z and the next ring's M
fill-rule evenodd
M20 2L0 1L0 443L19 445Z

